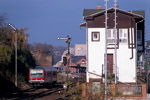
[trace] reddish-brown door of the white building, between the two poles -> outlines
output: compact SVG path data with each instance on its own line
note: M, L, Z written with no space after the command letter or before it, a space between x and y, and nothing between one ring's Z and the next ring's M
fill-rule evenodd
M107 71L113 74L113 54L107 54Z

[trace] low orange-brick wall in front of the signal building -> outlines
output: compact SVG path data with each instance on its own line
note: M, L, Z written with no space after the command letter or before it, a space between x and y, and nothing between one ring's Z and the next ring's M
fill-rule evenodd
M82 97L85 100L104 100L105 86L100 82L84 84L82 86ZM146 99L146 84L108 84L107 97L109 99Z

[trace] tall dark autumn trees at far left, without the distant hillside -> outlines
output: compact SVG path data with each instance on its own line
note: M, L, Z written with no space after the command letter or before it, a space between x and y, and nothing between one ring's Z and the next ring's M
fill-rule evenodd
M31 54L28 45L29 34L27 28L14 31L5 23L5 16L0 15L0 79L14 83L15 76L15 41L17 34L17 69L18 82L28 81L28 70L36 66L36 60Z

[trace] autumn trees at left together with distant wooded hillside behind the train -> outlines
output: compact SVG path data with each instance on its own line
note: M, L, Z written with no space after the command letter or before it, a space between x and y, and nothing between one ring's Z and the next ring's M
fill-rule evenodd
M6 23L5 15L0 15L0 81L6 79L13 84L15 83L16 34L18 83L28 82L30 67L52 66L61 60L61 55L66 47L55 47L42 43L29 44L29 34L26 31L27 28L21 28L16 33Z

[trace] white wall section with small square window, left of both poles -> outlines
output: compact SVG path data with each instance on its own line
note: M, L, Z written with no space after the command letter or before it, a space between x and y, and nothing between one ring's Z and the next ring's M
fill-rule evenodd
M100 41L92 41L92 32L100 32ZM102 75L105 53L105 28L88 28L88 71ZM87 73L89 78L101 78Z

